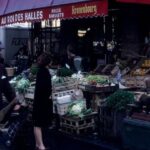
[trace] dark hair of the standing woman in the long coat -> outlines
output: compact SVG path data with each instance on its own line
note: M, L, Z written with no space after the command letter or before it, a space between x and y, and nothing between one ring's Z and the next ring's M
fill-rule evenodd
M48 53L42 53L39 57L38 57L38 65L40 67L46 67L50 62L51 62L51 55Z

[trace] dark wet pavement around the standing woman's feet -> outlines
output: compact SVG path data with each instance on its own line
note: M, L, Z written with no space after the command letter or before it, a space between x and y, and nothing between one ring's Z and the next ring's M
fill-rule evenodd
M49 150L121 150L118 145L113 145L94 136L73 136L58 130L44 131L44 142ZM0 150L34 150L34 136L32 130L21 133L10 147L6 147L4 139L0 136Z

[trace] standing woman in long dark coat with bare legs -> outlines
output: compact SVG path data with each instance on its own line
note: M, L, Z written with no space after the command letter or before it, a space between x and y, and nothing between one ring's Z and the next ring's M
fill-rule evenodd
M45 150L42 138L42 128L48 127L52 117L52 101L50 100L52 87L48 70L51 58L43 53L38 59L39 70L36 77L36 87L33 104L33 123L36 148Z

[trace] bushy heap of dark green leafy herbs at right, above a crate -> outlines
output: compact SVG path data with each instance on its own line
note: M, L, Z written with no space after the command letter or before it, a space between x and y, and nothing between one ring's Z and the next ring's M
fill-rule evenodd
M106 99L107 106L115 111L124 111L127 104L134 103L134 94L128 91L118 90Z

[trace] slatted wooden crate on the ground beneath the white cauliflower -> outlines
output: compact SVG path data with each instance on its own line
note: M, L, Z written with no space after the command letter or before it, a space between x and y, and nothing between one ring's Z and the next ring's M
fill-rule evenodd
M95 129L96 112L92 112L84 117L62 116L60 118L61 131L68 134L82 134Z

